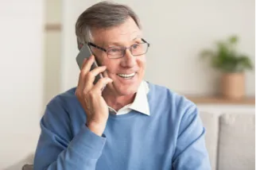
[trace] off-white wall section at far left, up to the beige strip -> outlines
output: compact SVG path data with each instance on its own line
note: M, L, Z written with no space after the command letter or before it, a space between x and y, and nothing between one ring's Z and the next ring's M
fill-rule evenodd
M43 109L43 0L0 2L0 169L32 161Z

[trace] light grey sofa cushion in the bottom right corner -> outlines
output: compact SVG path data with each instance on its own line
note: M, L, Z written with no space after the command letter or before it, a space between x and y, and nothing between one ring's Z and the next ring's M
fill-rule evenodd
M223 114L219 126L218 169L256 169L256 114Z

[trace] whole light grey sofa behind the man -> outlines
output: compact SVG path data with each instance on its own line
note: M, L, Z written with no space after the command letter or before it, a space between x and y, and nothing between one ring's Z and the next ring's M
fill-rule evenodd
M212 170L256 170L256 114L200 112ZM26 164L22 170L32 170Z

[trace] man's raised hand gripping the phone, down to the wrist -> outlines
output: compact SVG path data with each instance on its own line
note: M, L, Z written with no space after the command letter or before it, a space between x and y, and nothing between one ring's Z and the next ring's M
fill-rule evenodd
M113 80L106 77L99 79L94 84L95 76L106 70L106 67L102 66L90 71L94 61L95 56L83 61L75 94L87 114L87 127L93 133L102 136L109 116L107 103L102 96L102 89Z

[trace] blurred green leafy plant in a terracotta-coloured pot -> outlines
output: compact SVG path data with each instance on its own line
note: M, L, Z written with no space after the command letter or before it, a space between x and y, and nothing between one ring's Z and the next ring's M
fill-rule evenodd
M237 52L236 36L218 41L216 49L204 49L200 56L210 59L211 67L222 73L221 94L228 99L241 99L245 95L245 71L253 70L250 58Z

